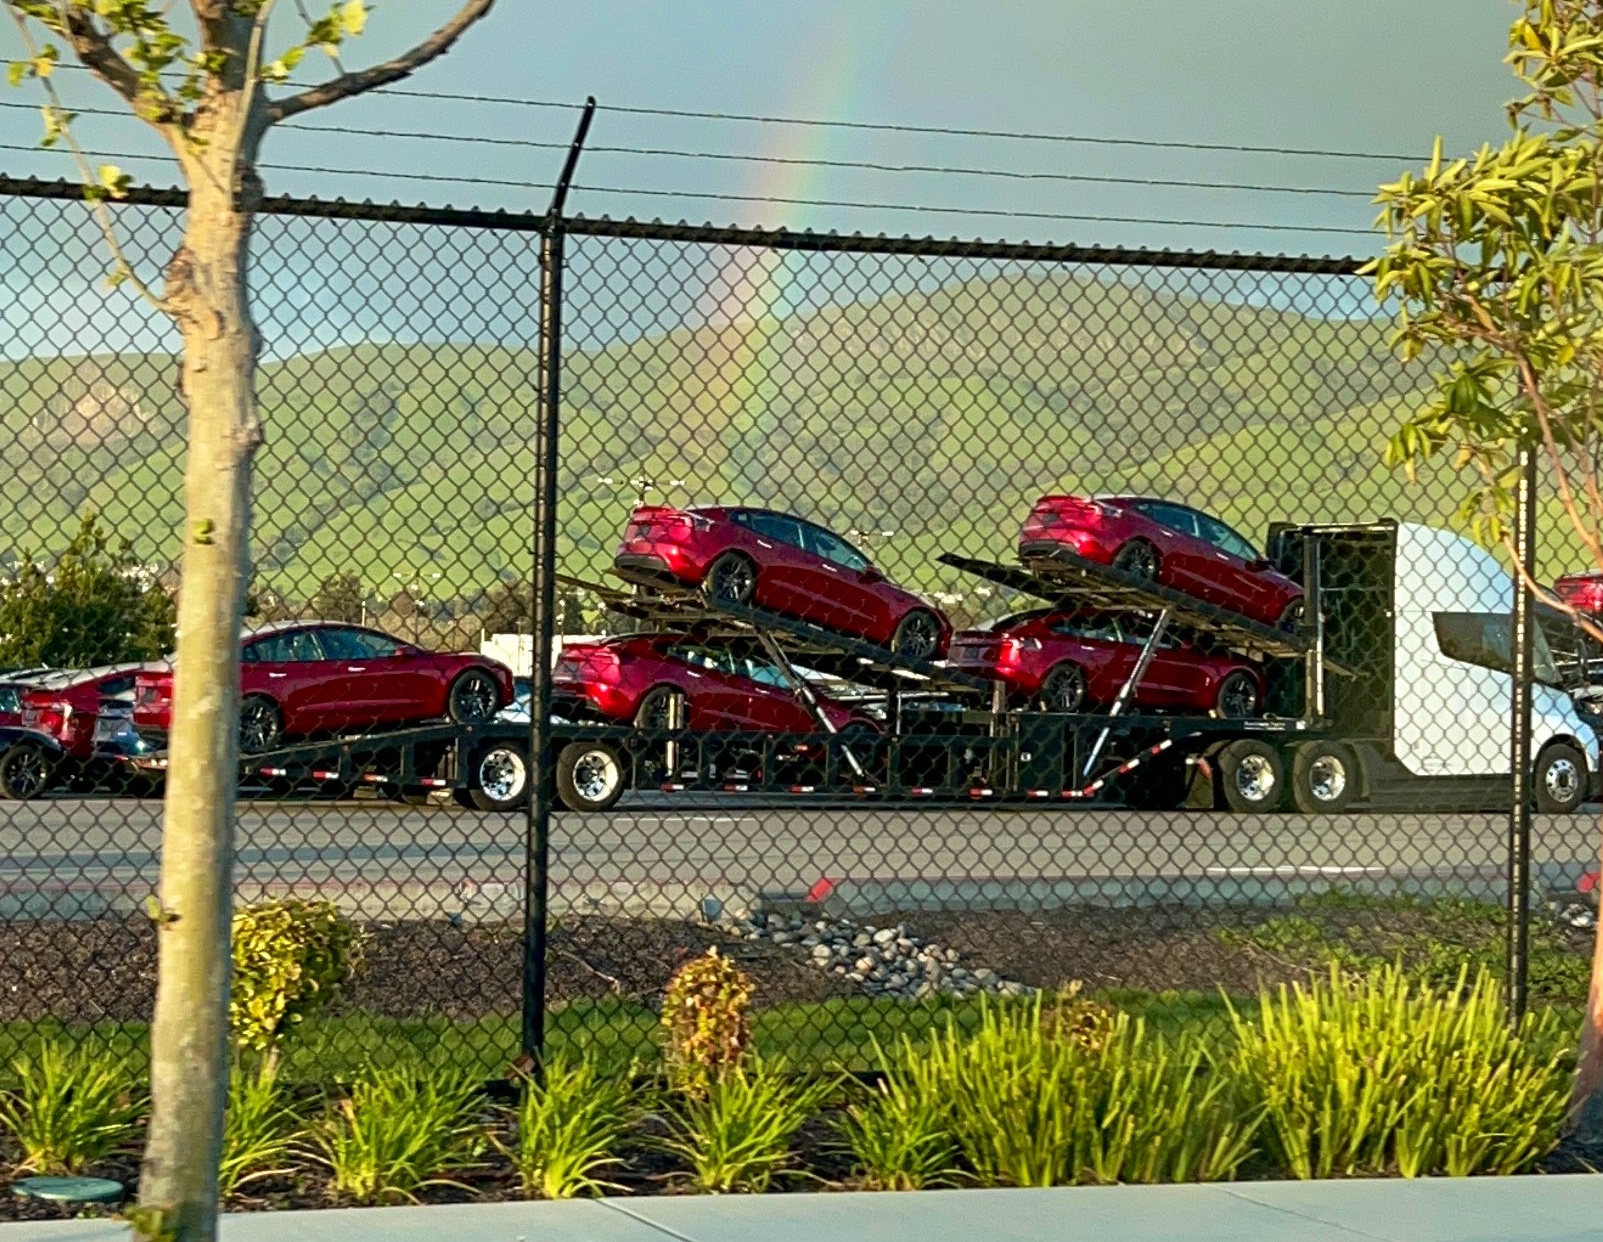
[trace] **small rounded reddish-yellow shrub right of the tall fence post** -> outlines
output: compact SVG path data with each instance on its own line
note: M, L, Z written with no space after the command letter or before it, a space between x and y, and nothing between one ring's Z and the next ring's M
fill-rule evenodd
M705 1093L752 1045L752 979L717 946L680 966L662 994L668 1082Z

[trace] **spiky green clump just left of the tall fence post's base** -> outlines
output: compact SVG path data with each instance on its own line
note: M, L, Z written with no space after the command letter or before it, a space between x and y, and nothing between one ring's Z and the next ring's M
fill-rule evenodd
M426 1186L457 1186L487 1146L478 1083L463 1072L396 1066L372 1071L313 1131L330 1189L361 1204L415 1202Z

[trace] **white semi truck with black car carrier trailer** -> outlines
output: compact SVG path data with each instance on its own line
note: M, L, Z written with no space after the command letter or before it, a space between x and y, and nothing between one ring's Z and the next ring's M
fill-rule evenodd
M1096 713L1016 710L1000 683L808 622L720 604L692 588L564 579L598 591L635 622L765 652L813 708L819 729L692 731L676 726L683 704L672 702L668 728L636 729L571 718L580 705L559 702L551 755L540 764L556 800L571 811L601 811L641 788L1151 809L1189 801L1242 813L1507 804L1513 587L1489 553L1459 535L1395 521L1271 527L1270 561L1305 591L1303 617L1290 631L1069 551L1028 564L939 559L1052 606L1151 617L1117 700ZM1260 660L1265 715L1130 712L1135 686L1170 630ZM883 731L834 731L805 670L882 692ZM1537 684L1532 697L1537 806L1574 809L1595 792L1597 734L1560 686ZM375 785L402 798L447 788L463 804L511 809L529 795L527 747L526 724L441 723L253 755L242 763L242 779ZM165 756L130 763L160 769Z

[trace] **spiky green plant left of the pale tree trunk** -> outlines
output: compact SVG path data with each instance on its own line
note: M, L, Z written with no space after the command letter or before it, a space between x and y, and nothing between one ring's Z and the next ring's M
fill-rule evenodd
M16 1090L0 1093L0 1127L22 1151L21 1171L82 1173L130 1147L149 1098L127 1066L55 1040L11 1061Z

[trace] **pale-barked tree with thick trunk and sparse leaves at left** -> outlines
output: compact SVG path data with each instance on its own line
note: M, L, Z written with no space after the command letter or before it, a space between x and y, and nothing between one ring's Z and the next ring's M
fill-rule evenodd
M178 386L189 415L183 591L173 688L172 766L162 822L160 954L151 1027L151 1127L130 1212L138 1239L210 1242L228 1091L228 928L239 732L239 623L250 579L252 462L263 441L260 345L245 284L264 188L261 143L282 122L410 75L449 51L495 0L449 0L455 13L414 48L346 71L341 46L367 26L365 0L303 3L297 34L274 40L277 0L0 0L26 58L11 82L45 93L45 143L77 159L111 248L112 280L172 317L183 338ZM446 8L444 11L450 11ZM43 37L40 37L43 35ZM160 288L128 261L109 197L128 178L90 167L51 82L61 51L104 83L167 144L188 186L183 242ZM335 75L289 91L324 51Z

